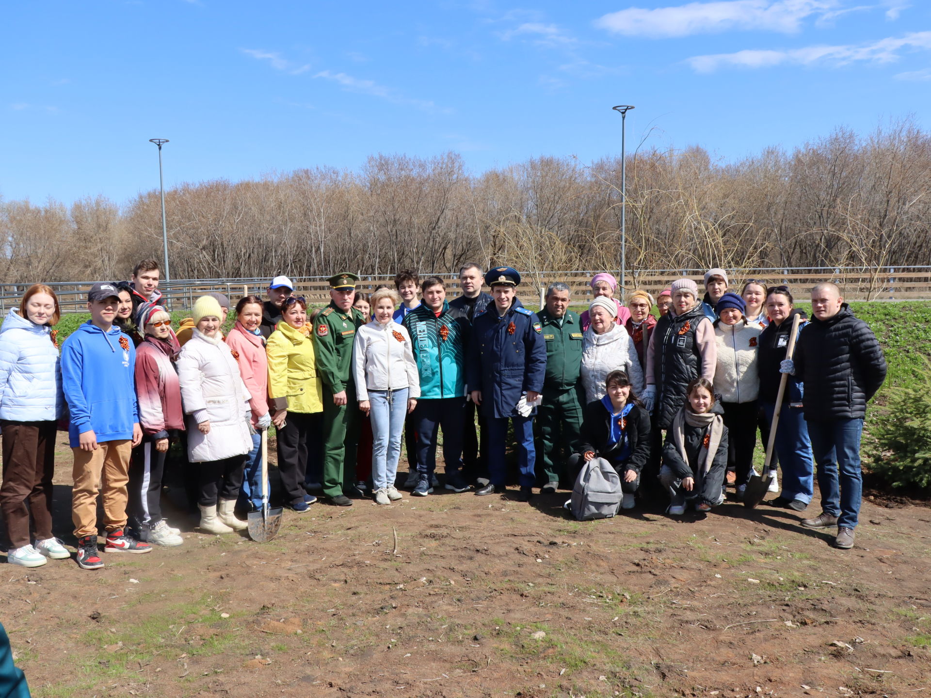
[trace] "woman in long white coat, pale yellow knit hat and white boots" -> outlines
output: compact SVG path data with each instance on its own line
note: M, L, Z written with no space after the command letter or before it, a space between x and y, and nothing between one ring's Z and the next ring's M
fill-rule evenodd
M212 296L194 304L195 329L178 357L187 424L187 453L198 463L200 529L231 533L248 527L233 514L250 437L250 392L220 331L223 310Z

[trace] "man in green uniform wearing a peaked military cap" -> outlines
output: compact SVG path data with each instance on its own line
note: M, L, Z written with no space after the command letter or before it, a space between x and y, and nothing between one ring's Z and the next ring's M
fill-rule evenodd
M366 320L352 306L355 274L331 276L330 305L314 320L317 373L323 382L323 493L331 503L352 506L344 494L356 481L358 401L352 371L356 329Z

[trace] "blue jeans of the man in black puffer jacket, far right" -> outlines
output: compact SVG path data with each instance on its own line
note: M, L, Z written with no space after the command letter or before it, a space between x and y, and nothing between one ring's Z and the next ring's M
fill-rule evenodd
M808 435L817 464L817 486L821 490L821 509L831 517L839 517L837 525L842 529L857 526L863 496L862 434L862 419L808 421Z

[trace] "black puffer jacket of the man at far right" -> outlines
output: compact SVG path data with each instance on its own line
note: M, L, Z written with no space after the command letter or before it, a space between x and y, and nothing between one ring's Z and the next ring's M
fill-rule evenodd
M876 335L847 303L827 320L813 317L795 346L795 376L805 386L806 420L862 419L885 380Z

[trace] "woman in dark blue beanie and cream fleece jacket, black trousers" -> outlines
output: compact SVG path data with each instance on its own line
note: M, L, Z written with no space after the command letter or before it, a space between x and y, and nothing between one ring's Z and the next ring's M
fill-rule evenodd
M727 469L735 472L737 496L742 497L753 467L760 396L757 349L762 329L748 325L746 302L736 293L722 295L714 323L717 366L714 392L721 396L727 427Z

